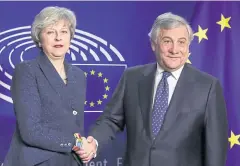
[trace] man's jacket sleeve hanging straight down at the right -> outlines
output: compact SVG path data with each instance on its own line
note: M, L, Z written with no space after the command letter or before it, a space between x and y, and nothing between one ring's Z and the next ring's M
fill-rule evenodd
M213 81L205 113L205 166L225 166L228 146L226 104L218 80Z

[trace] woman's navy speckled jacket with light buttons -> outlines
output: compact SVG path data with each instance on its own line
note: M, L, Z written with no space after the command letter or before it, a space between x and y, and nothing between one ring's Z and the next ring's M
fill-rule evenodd
M85 76L78 67L64 66L67 85L44 54L16 66L11 90L17 124L4 166L64 156L75 144L73 134L84 132Z

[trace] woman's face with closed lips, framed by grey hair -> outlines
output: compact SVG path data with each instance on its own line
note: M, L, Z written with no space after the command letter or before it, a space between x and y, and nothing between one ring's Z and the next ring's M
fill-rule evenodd
M71 34L67 21L60 20L44 28L40 34L40 46L51 59L62 59L69 49Z

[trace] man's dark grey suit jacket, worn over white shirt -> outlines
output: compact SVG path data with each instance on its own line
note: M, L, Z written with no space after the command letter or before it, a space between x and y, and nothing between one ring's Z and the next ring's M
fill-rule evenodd
M98 151L126 126L124 166L225 166L226 106L219 81L185 64L155 139L151 132L156 64L127 69L89 133Z

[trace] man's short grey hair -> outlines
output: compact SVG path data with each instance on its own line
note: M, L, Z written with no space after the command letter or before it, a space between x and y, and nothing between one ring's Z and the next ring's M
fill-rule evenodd
M157 37L161 29L172 29L181 25L186 26L189 34L190 43L193 40L193 30L191 26L183 17L172 14L171 12L161 14L156 18L148 36L150 37L152 42L156 43Z

